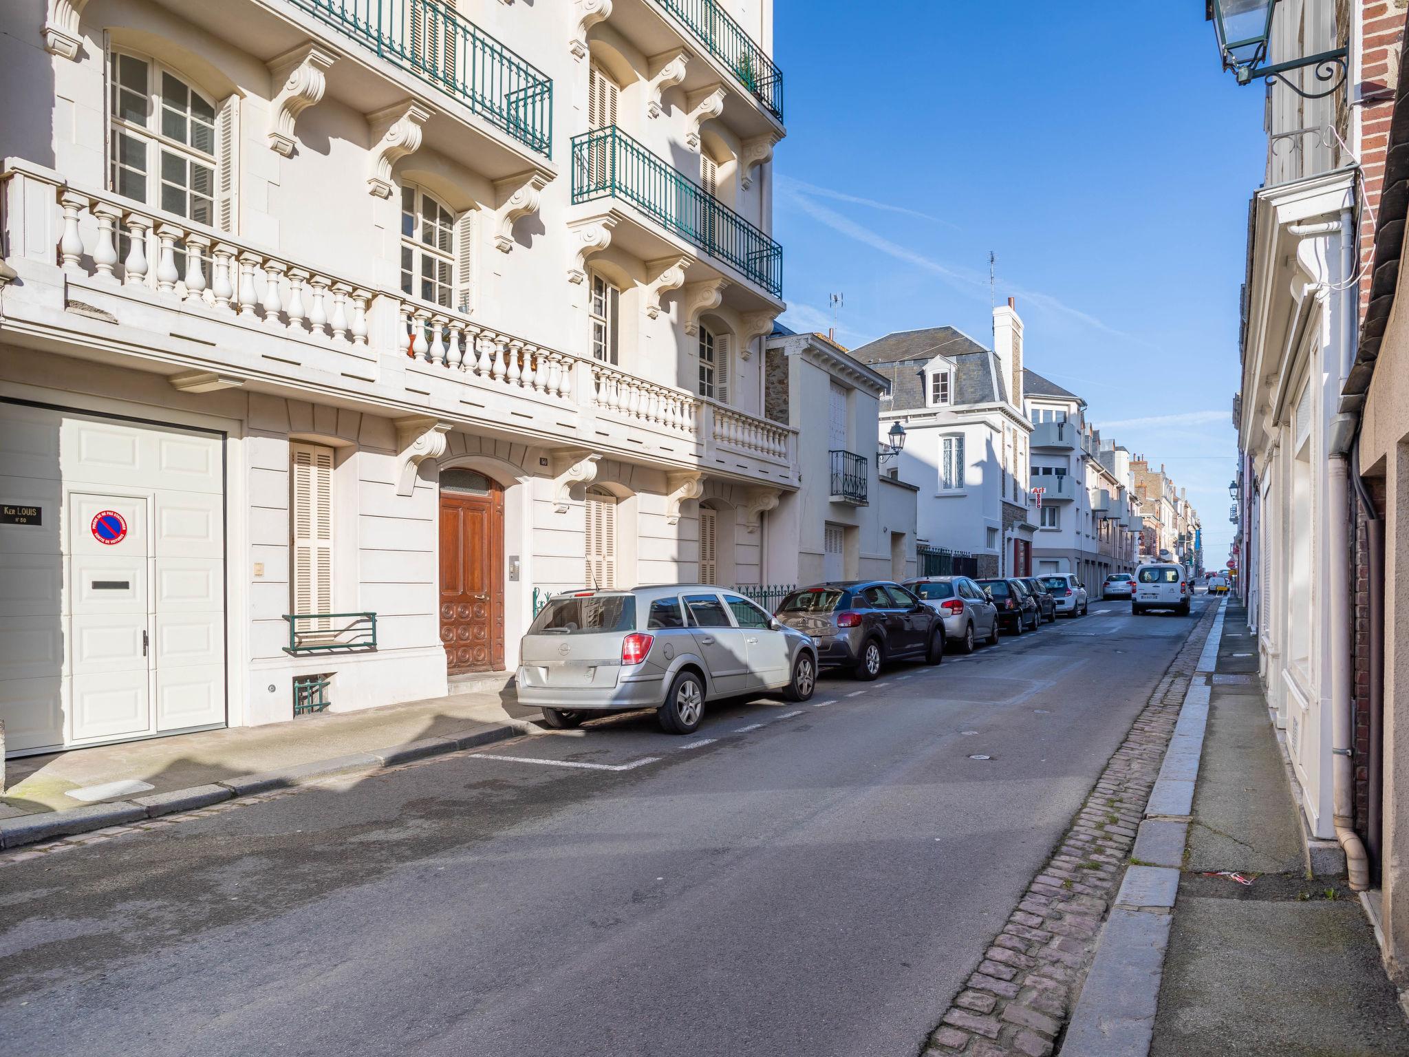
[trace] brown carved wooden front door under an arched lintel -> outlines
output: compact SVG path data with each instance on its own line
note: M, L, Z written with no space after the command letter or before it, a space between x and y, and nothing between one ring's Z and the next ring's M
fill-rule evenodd
M504 493L471 471L441 474L441 643L451 675L504 667Z

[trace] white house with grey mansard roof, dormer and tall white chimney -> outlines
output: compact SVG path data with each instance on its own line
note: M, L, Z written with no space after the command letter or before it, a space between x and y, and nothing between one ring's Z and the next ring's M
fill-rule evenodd
M919 485L919 537L967 552L981 576L1033 569L1037 509L1029 493L1033 423L1023 413L1023 321L993 310L993 348L954 327L888 334L854 352L890 385L882 440L899 421L898 472Z

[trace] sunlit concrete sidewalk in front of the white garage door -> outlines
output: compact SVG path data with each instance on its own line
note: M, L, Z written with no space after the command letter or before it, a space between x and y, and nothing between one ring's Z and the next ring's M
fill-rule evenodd
M537 709L521 707L513 689L503 689L21 757L7 761L0 822L241 777L331 769L340 761L349 768L358 760L376 765L371 757L404 755L409 746L430 754L437 740L454 747L468 737L480 743L496 734L517 737L538 730L531 722L537 719ZM110 785L108 792L104 786Z

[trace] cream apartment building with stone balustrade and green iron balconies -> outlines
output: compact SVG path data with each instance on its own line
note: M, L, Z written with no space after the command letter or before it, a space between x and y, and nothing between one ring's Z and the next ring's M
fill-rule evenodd
M10 751L427 698L766 575L771 0L0 8Z

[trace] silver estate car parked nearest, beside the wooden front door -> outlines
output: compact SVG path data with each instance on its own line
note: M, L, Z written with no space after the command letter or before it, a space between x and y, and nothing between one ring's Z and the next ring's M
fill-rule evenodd
M550 727L592 713L655 709L689 734L704 703L783 691L807 700L817 650L747 598L702 583L554 595L520 645L519 702Z

